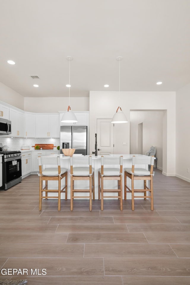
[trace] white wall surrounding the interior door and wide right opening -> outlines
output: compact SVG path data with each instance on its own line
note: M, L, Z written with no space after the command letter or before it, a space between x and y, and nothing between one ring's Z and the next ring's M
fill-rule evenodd
M167 147L167 159L163 162L163 173L175 176L175 92L118 92L90 91L90 153L94 150L95 119L112 118L118 105L130 121L130 111L134 110L167 110L167 135L164 137ZM165 121L164 121L165 122ZM116 124L116 153L130 152L130 124ZM121 140L122 138L122 140ZM122 142L128 143L123 146ZM165 151L165 150L163 150Z

